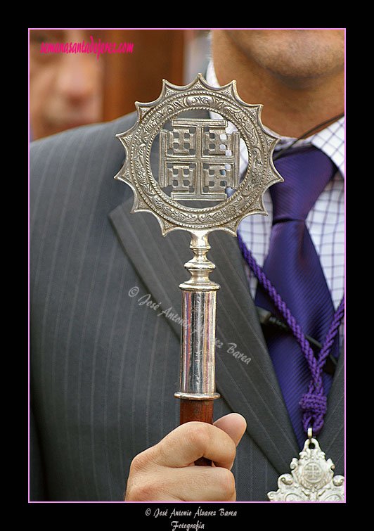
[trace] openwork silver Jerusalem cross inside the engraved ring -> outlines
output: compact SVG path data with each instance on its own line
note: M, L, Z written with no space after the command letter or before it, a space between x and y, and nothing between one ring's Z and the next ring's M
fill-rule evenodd
M227 198L239 186L238 132L226 132L226 120L172 120L160 131L159 186L172 186L175 200Z

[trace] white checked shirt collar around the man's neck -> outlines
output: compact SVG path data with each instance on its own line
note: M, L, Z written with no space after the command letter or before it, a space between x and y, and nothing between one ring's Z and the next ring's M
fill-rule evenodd
M209 62L207 68L207 82L209 85L212 85L212 87L219 87L219 82L217 80L212 60ZM214 113L211 113L211 115L213 117ZM340 120L333 122L333 124L330 124L328 127L325 127L325 129L322 129L318 133L308 136L307 139L299 140L297 142L297 146L312 144L313 146L316 146L316 148L321 149L321 151L323 151L330 157L331 160L333 160L334 164L344 177L344 127L345 119L343 116L340 118ZM229 124L228 129L230 130L232 128L233 124ZM276 149L286 148L296 140L290 136L280 136L278 133L271 131L269 127L264 126L264 128L266 132L276 135L280 139ZM243 141L240 143L240 162L240 166L247 165L248 163L247 148L245 147L245 143Z

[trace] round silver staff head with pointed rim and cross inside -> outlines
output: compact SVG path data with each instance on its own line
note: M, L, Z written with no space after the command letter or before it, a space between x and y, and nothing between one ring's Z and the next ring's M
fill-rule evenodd
M157 100L135 105L136 123L117 134L126 160L115 175L134 191L131 212L151 212L163 236L175 229L236 236L244 217L267 214L264 192L283 181L272 160L278 137L264 129L262 105L240 99L235 81L214 88L199 74L178 87L164 79ZM158 174L150 162L157 136ZM243 177L240 141L248 155Z

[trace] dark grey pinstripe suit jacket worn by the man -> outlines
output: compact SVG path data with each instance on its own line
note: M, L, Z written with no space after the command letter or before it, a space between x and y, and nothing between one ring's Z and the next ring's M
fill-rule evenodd
M121 501L131 459L179 424L180 326L172 314L181 314L189 237L163 238L153 215L129 214L132 191L113 179L124 161L115 134L135 119L64 132L30 149L32 500ZM245 416L233 466L237 499L266 501L299 449L236 238L219 231L209 243L212 279L221 285L214 418ZM343 378L340 356L318 437L338 474Z

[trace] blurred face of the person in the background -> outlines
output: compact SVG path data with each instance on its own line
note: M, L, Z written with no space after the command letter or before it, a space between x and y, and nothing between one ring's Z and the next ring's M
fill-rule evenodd
M105 30L30 30L32 139L103 120L104 57L96 53L44 53L42 44L103 41Z

